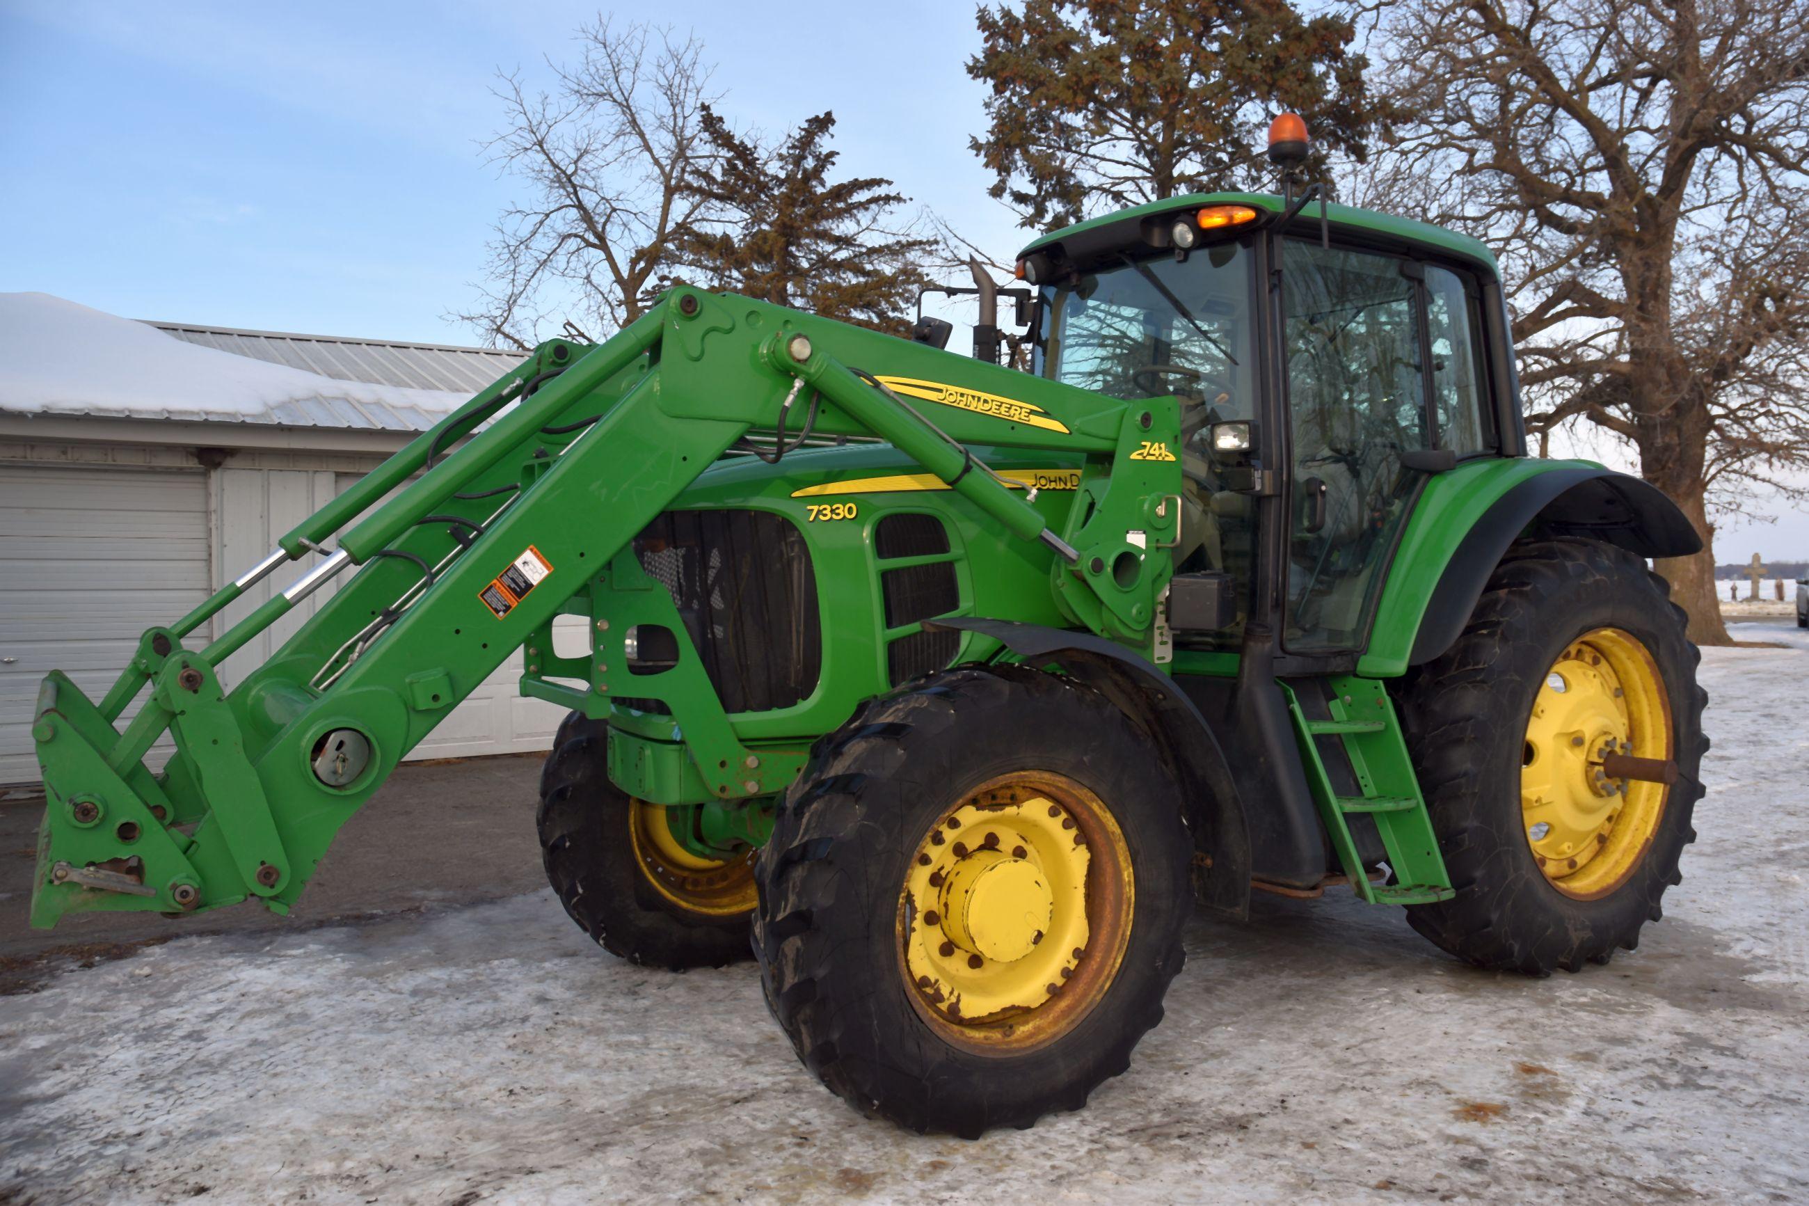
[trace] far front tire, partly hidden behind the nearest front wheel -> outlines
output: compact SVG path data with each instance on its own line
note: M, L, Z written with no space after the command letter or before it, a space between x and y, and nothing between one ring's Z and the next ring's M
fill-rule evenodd
M566 915L597 946L631 964L684 971L749 958L753 852L738 866L722 864L715 881L725 891L698 897L702 908L686 908L673 899L673 884L657 884L637 853L648 817L664 817L664 810L648 808L610 781L608 725L579 712L568 716L541 770L537 814L541 861ZM740 899L736 875L747 881L745 904L724 911L724 902Z

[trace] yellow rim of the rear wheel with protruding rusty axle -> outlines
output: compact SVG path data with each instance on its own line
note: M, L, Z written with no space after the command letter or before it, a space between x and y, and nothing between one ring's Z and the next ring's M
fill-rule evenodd
M1579 900L1626 882L1659 832L1670 788L1612 779L1606 754L1670 761L1672 705L1632 633L1583 633L1545 673L1521 752L1527 843L1558 891Z

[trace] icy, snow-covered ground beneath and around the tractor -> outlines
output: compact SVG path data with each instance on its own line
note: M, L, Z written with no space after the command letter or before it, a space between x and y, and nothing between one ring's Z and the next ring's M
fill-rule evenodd
M1456 966L1393 909L1196 920L1080 1114L867 1121L751 966L601 955L546 893L185 938L0 998L0 1202L1805 1201L1809 633L1711 649L1710 796L1608 967Z

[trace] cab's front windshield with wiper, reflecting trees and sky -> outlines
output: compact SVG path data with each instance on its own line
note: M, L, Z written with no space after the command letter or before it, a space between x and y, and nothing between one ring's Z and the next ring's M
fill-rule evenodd
M1255 354L1239 244L1187 260L1122 257L1047 289L1044 302L1040 376L1114 398L1176 394L1207 403L1214 421L1250 418Z

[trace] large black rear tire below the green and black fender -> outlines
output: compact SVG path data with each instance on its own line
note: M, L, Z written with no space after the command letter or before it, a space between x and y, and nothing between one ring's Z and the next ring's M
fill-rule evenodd
M1634 553L1585 541L1529 542L1509 551L1456 644L1402 680L1398 693L1407 747L1456 888L1451 900L1407 909L1420 935L1478 967L1536 976L1606 964L1617 947L1632 951L1639 944L1641 928L1662 913L1664 890L1682 879L1677 864L1695 841L1690 819L1702 796L1708 694L1695 682L1700 655L1684 627L1686 617L1670 602L1664 580ZM1552 696L1541 696L1547 676L1558 665L1579 665L1563 662L1579 647L1581 665L1588 665L1596 645L1586 642L1597 633L1632 636L1650 655L1641 664L1655 671L1650 694L1662 696L1657 703L1668 712L1668 749L1679 777L1668 790L1653 788L1657 812L1639 819L1641 832L1650 824L1650 834L1637 839L1635 810L1650 808L1653 799L1641 796L1648 785L1630 783L1632 794L1608 794L1599 803L1576 792L1585 806L1608 815L1605 832L1577 843L1583 872L1588 857L1617 859L1585 879L1563 859L1547 857L1550 850L1534 850L1532 834L1543 843L1552 826L1539 832L1534 821L1529 828L1521 792L1525 787L1529 799L1541 797L1538 785L1556 774L1532 770L1541 765L1538 758L1550 758L1554 767L1574 759L1579 774L1594 774L1583 761L1583 747L1594 738L1567 730L1541 754L1529 725L1536 702L1550 705ZM1635 651L1637 658L1635 645L1614 647ZM1612 691L1628 707L1637 694L1634 682ZM1659 741L1662 734L1652 729L1646 725L1635 738ZM1547 814L1534 805L1530 815ZM1632 843L1624 855L1614 844L1621 841Z

